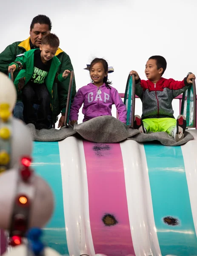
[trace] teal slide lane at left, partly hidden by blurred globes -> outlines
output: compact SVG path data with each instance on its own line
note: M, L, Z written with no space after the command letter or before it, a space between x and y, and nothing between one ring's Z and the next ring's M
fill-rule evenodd
M62 175L58 142L34 142L32 168L51 187L55 208L49 223L44 227L43 241L60 254L69 254L63 210Z

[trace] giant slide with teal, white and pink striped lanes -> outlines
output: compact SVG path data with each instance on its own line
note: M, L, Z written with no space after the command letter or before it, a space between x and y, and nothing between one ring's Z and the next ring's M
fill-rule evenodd
M130 124L132 81L125 101L133 112ZM44 228L47 244L70 256L197 255L195 99L194 87L183 95L181 111L194 136L184 145L93 143L75 136L34 142L32 167L55 198Z

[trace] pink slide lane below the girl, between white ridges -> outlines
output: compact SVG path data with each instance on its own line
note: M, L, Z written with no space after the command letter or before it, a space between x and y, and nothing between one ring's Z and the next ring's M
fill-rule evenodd
M95 253L134 256L119 143L83 141Z

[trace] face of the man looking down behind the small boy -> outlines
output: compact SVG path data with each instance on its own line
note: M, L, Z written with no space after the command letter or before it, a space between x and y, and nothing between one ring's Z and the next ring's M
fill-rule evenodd
M43 36L48 33L50 33L49 25L39 24L39 23L34 24L34 28L30 29L30 32L29 32L31 43L35 47L39 47Z

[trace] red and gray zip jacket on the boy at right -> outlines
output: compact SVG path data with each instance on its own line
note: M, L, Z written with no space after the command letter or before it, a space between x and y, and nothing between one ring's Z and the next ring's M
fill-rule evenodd
M161 78L157 83L150 80L137 80L135 94L142 101L142 119L145 118L174 118L172 100L185 92L191 84L187 83L187 78L183 81Z

